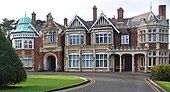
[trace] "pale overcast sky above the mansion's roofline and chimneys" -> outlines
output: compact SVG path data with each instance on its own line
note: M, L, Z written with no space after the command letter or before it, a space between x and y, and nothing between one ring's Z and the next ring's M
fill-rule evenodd
M26 15L31 18L34 11L37 19L46 20L51 12L56 22L63 24L63 19L70 22L75 15L84 20L92 20L92 7L97 6L98 16L103 12L107 17L117 17L117 9L124 9L124 17L133 17L150 11L151 0L2 0L0 4L0 20L15 19ZM165 4L167 18L170 19L170 0L152 0L152 11L158 14L158 6Z

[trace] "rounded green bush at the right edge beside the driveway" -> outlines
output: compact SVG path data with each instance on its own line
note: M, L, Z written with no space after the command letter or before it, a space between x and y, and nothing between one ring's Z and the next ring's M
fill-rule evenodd
M156 65L152 67L151 78L158 81L170 81L170 65Z

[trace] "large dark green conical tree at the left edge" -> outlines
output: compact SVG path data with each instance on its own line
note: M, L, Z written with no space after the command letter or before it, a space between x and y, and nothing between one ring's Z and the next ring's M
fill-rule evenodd
M0 87L26 81L22 62L0 29Z

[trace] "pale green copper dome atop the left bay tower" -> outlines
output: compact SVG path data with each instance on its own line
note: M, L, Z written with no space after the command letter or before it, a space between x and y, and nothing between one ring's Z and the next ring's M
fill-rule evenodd
M18 25L13 32L34 32L31 27L31 19L27 16L20 18Z

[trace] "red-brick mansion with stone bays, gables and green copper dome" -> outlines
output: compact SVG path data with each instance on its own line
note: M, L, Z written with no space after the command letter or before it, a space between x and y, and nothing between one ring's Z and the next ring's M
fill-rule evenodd
M76 15L68 24L53 21L51 13L43 25L21 18L12 31L12 46L23 65L34 71L77 72L149 72L151 67L169 62L169 20L166 5L152 11L124 18L117 9L117 18L97 16L85 21Z

